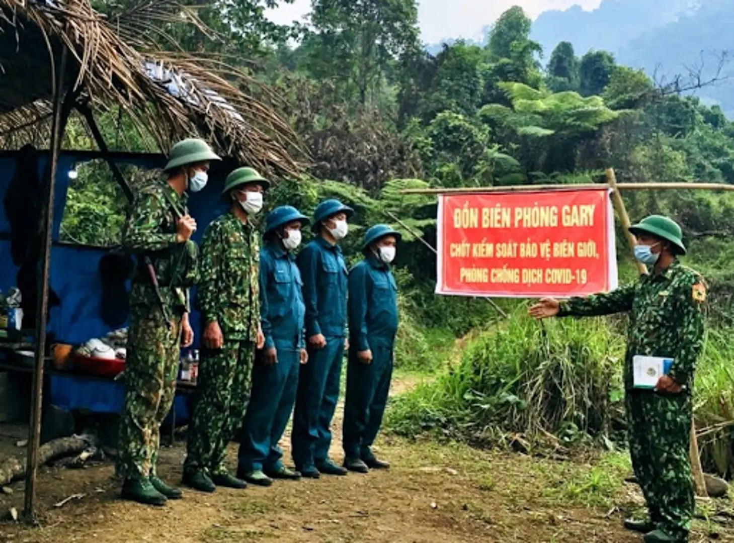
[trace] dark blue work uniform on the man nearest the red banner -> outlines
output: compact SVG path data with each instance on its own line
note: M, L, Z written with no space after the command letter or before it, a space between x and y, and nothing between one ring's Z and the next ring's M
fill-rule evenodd
M390 267L368 256L349 272L349 362L344 406L344 453L368 456L377 437L393 374L398 287ZM371 364L357 360L372 351Z

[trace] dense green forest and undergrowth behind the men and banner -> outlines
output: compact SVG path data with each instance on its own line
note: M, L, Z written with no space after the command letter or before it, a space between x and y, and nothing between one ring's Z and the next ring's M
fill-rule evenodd
M570 41L559 41L541 57L531 20L512 7L492 26L486 44L457 41L431 54L419 39L415 0L313 0L308 23L298 26L270 22L264 8L274 4L217 0L198 12L210 34L172 22L161 28L161 46L172 47L172 37L187 51L217 55L274 90L301 142L293 152L309 166L302 178L279 180L268 205L291 203L308 213L327 195L354 205L346 247L352 259L360 227L392 222L388 213L435 242L435 199L401 195L409 186L589 183L601 181L608 167L625 182L734 184L734 123L719 106L682 92L705 90L705 77L684 72L667 84L654 81L604 51L608 42L600 34L592 51L579 54ZM103 2L99 8L114 17L125 7ZM563 28L575 32L574 25ZM723 36L712 33L710 39ZM261 91L252 85L252 92ZM109 112L103 127L109 134L120 129L116 119ZM70 138L67 145L90 145L81 129ZM697 424L719 425L702 441L704 459L730 473L730 430L722 423L734 419L728 368L734 350L727 339L734 326L734 198L642 191L625 199L633 219L653 212L677 219L690 245L688 265L711 284ZM114 244L124 205L98 170L82 170L70 191L62 236ZM634 280L621 235L618 247L622 279ZM509 432L528 440L549 434L566 445L606 441L623 431L622 321L541 329L528 322L524 302L503 301L511 314L505 320L485 300L435 296L434 262L407 233L397 259L397 363L435 370L438 377L396 402L390 410L395 431L435 431L482 443ZM469 332L465 355L443 368L437 345Z

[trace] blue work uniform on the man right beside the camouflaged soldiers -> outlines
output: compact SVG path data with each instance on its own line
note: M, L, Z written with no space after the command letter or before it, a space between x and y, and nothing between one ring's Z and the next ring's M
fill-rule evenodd
M305 305L295 258L275 243L260 251L261 325L265 349L277 350L277 363L258 357L252 369L252 397L244 415L238 473L283 467L277 443L286 430L298 388L300 351L305 346Z

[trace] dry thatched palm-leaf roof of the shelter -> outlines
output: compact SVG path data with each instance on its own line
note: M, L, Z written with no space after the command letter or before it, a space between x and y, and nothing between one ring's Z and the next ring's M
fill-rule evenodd
M286 121L271 102L238 88L253 90L252 79L215 59L155 47L150 21L164 16L195 21L173 0L142 0L114 21L90 0L0 0L0 145L47 145L54 73L67 48L65 87L96 112L119 108L163 152L199 134L242 164L275 175L298 172ZM272 98L264 87L256 90Z

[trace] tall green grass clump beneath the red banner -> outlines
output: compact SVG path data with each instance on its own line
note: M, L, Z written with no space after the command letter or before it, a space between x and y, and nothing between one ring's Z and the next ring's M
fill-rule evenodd
M537 324L520 308L470 343L455 368L396 398L388 428L468 442L550 432L564 445L603 434L623 351L604 321Z

